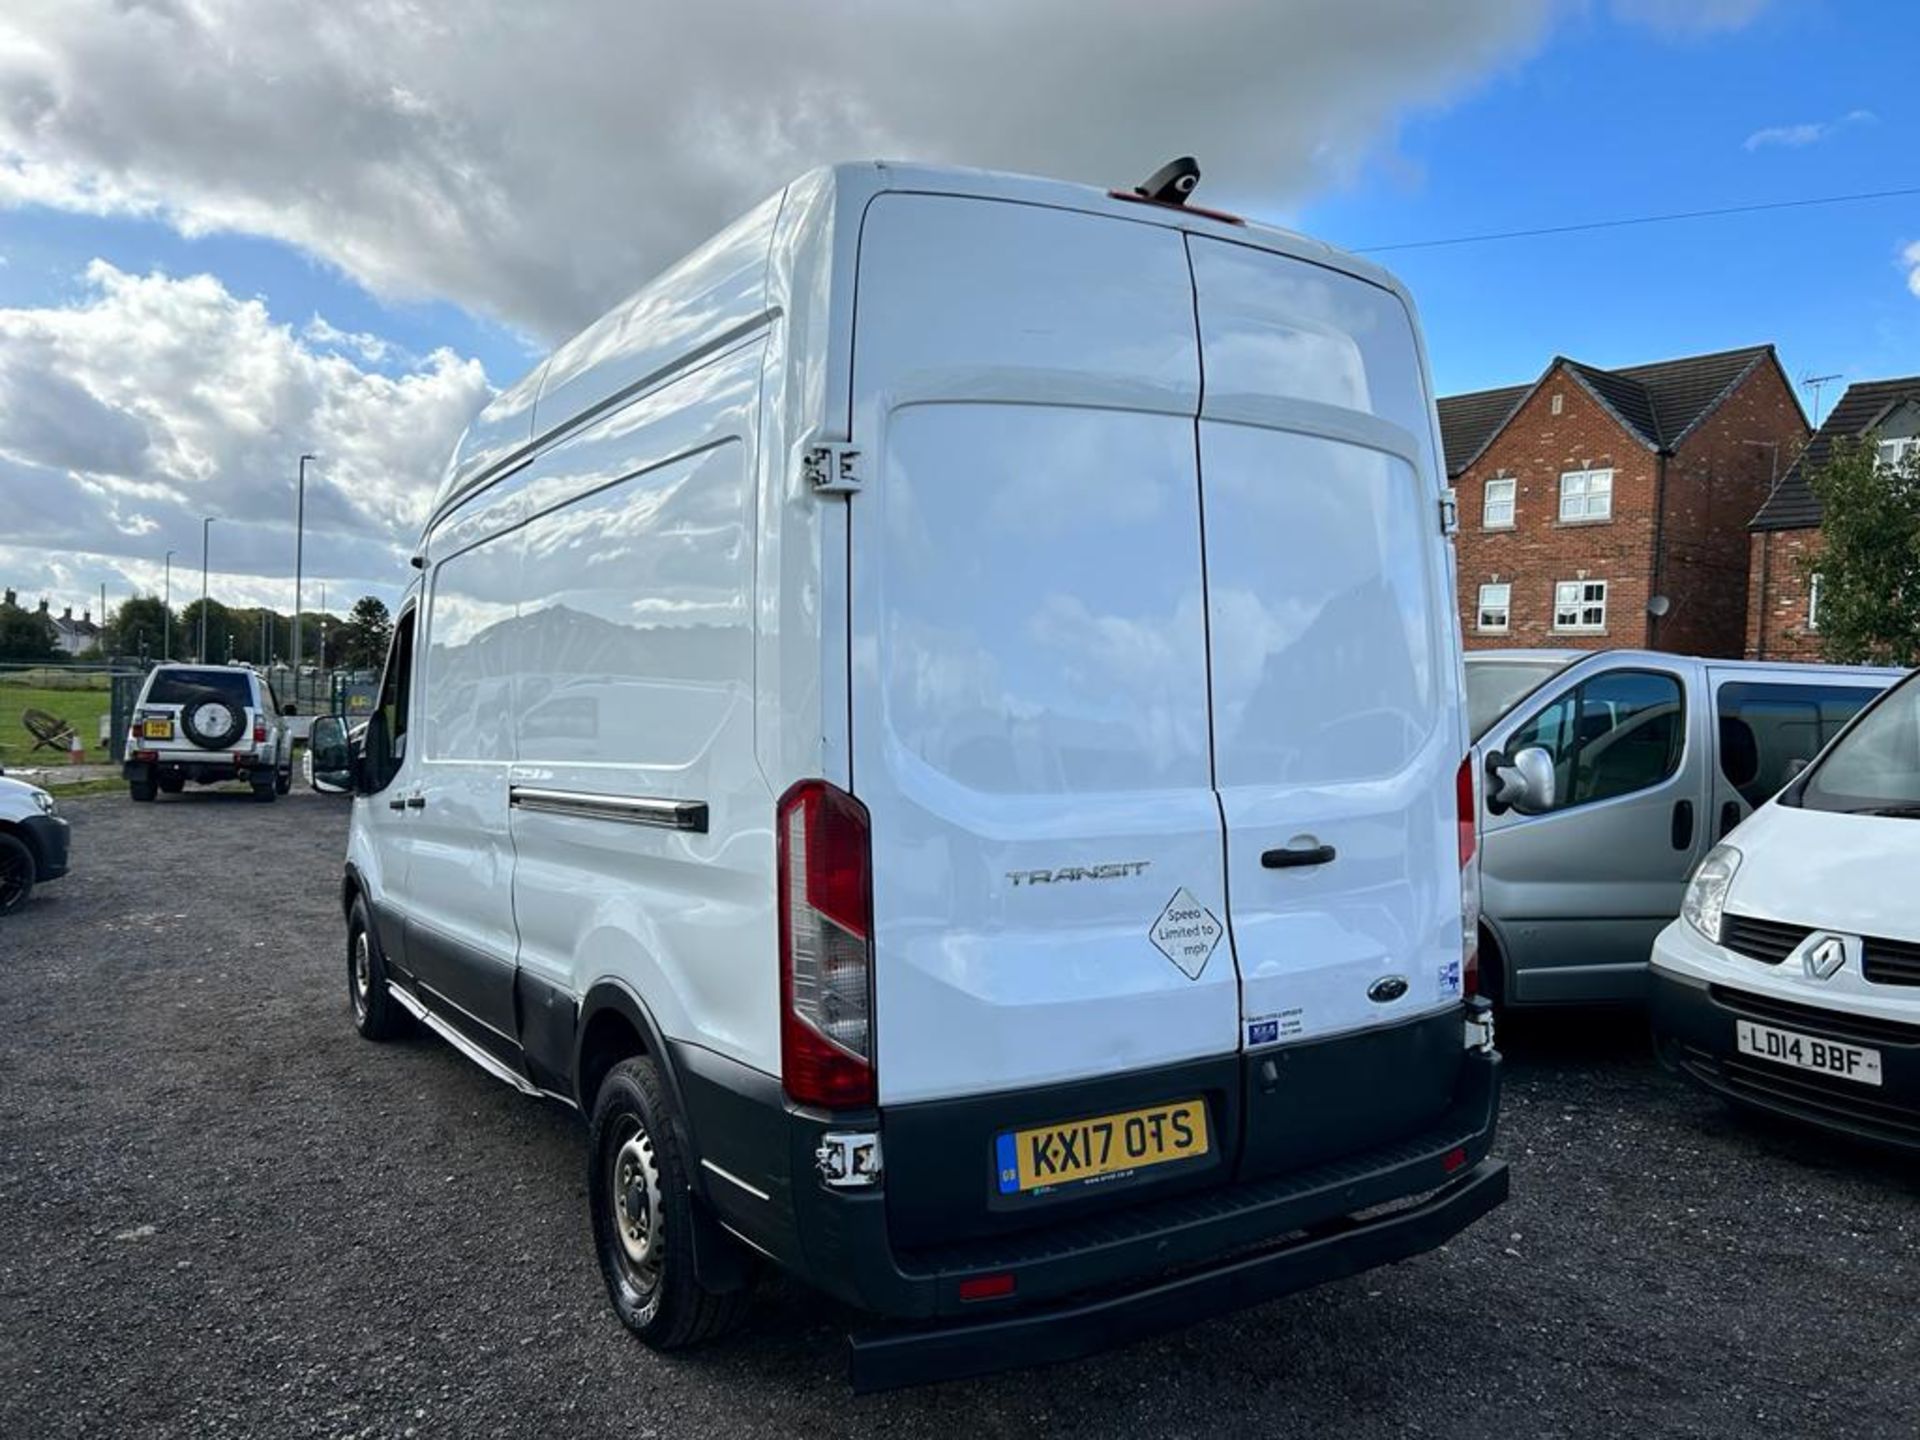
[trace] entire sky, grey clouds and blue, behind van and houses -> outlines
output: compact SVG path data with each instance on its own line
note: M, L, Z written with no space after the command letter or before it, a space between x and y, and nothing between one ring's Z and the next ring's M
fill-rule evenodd
M1202 198L1356 248L1920 184L1862 0L8 0L0 582L392 597L492 388L826 159ZM1920 371L1920 200L1382 250L1442 390L1772 340ZM1828 392L1828 403L1834 392ZM182 593L184 588L184 593ZM307 603L317 603L317 589Z

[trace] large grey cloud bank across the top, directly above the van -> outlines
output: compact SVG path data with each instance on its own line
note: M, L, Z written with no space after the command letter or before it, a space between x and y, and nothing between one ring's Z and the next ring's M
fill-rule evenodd
M1724 0L1720 0L1724 4ZM1645 0L1636 0L1645 8ZM904 156L1281 205L1551 0L10 0L0 204L286 240L555 340L797 171Z

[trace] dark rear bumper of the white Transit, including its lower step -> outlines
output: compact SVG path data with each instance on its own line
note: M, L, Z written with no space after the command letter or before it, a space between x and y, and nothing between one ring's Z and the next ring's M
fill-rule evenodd
M1459 1044L1459 1020L1450 1023ZM1392 1142L1356 1139L1354 1150L1260 1179L1175 1181L1142 1188L1135 1204L1062 1212L1056 1223L1029 1229L960 1231L945 1244L924 1235L906 1248L902 1223L906 1233L914 1225L889 1217L887 1196L887 1185L899 1188L906 1175L837 1190L814 1167L828 1131L877 1129L885 1140L883 1116L795 1108L781 1098L778 1079L741 1071L707 1050L676 1046L674 1069L710 1213L839 1300L929 1327L862 1336L854 1367L866 1388L1089 1354L1352 1275L1440 1244L1507 1192L1505 1169L1486 1164L1500 1056L1465 1052L1452 1098L1442 1092L1427 1117L1413 1121L1415 1133ZM1185 1091L1173 1081L1164 1098ZM1425 1098L1409 1094L1407 1102ZM981 1154L981 1179L985 1167ZM1421 1196L1430 1200L1350 1219ZM1002 1284L1010 1277L1012 1290L962 1300L962 1284L985 1277ZM1165 1319L1156 1319L1162 1311Z

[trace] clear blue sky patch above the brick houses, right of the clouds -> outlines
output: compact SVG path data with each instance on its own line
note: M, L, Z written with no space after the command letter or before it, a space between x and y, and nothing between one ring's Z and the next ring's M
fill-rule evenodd
M1390 163L1298 223L1367 246L1920 186L1916 19L1776 6L1688 40L1590 13L1409 119ZM1859 111L1814 142L1747 148ZM1442 394L1532 380L1555 353L1630 365L1755 342L1795 378L1860 380L1920 371L1920 296L1899 265L1914 240L1920 196L1375 259L1413 290Z

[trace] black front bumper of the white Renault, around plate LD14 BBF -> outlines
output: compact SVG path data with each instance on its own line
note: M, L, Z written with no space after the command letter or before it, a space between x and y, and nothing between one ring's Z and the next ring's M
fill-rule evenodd
M1920 1152L1920 1023L1828 1012L1659 966L1649 983L1655 1048L1692 1083L1724 1100ZM1740 1054L1734 1043L1740 1020L1878 1050L1882 1083L1862 1085Z

